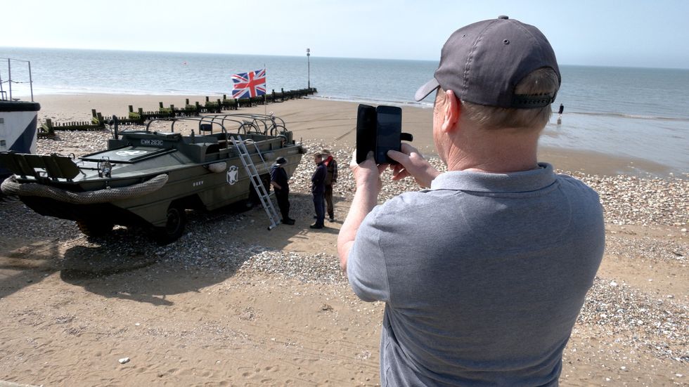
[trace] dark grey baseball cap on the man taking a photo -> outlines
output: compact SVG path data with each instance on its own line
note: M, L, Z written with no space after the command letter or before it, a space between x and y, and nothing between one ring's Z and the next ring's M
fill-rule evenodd
M555 94L516 95L527 74L550 67L560 77L555 52L538 28L507 16L462 27L445 42L433 79L416 91L416 100L442 87L470 103L520 109L543 107Z

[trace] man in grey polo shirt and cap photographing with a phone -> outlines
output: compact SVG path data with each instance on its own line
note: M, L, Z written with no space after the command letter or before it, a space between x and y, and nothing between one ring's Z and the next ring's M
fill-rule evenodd
M434 78L448 171L403 144L393 179L429 190L378 204L387 166L352 170L337 248L364 301L384 301L382 386L557 386L605 245L598 195L536 161L560 87L539 29L501 16L454 32Z

